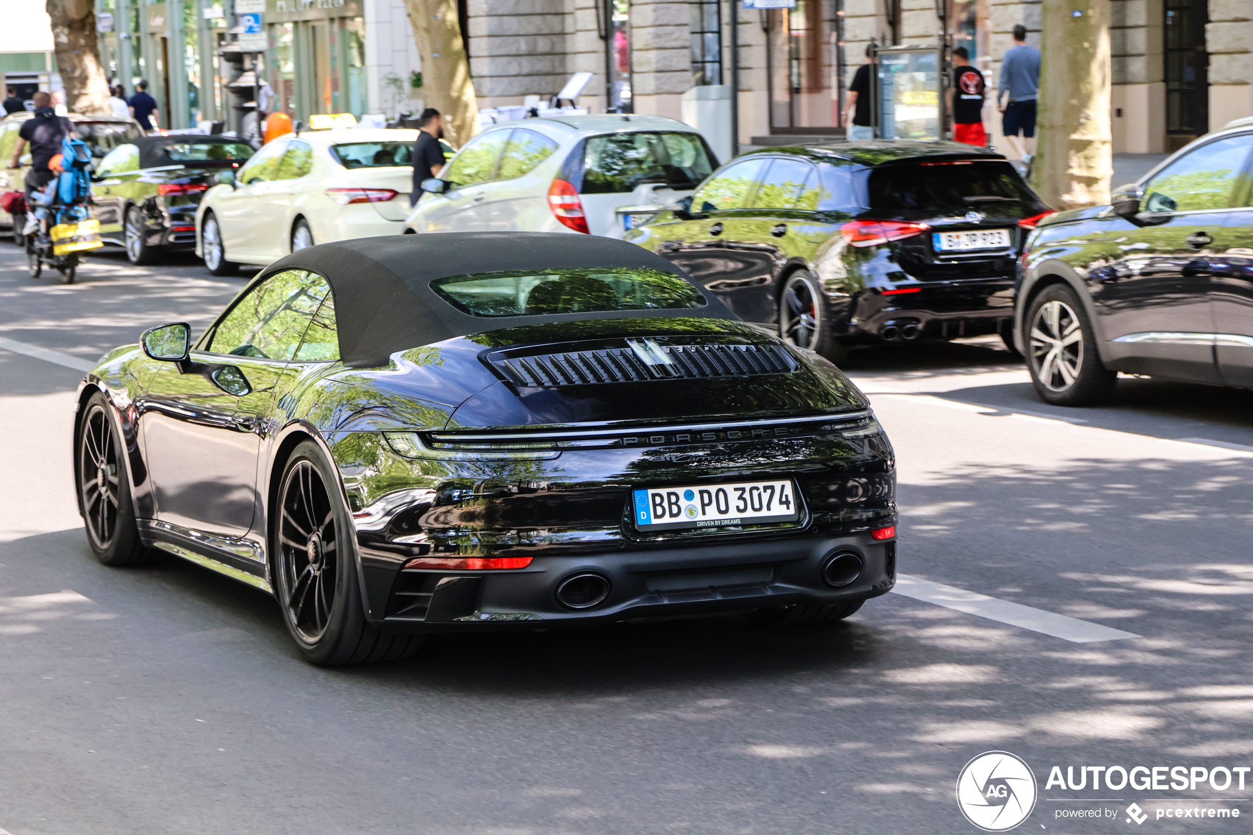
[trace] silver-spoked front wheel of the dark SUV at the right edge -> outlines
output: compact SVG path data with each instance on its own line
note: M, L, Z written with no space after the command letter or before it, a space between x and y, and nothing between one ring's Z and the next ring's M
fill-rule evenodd
M1118 373L1105 368L1083 304L1064 284L1050 284L1026 315L1027 368L1046 403L1094 406L1109 397Z

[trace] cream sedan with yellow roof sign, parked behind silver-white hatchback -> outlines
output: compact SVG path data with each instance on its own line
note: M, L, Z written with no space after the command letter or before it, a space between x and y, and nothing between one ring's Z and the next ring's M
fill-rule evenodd
M221 175L195 213L195 254L214 275L330 240L402 230L416 130L287 134Z

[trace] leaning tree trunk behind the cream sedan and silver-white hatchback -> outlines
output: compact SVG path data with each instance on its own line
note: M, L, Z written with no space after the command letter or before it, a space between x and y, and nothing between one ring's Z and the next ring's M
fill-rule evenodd
M455 148L479 133L479 103L470 80L470 59L461 40L456 0L405 0L422 58L422 98L444 116L444 134Z

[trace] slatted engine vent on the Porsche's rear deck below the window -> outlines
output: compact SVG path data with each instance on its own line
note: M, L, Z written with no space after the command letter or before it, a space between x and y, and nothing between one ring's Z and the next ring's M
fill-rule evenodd
M663 346L654 339L628 339L624 347L529 356L496 352L487 359L505 379L526 388L759 377L789 374L797 368L796 359L779 346Z

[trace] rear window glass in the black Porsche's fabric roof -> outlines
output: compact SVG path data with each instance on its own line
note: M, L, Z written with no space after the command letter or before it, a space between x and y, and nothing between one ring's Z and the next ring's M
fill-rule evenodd
M704 297L673 273L640 268L549 269L450 275L431 289L470 315L679 310Z

